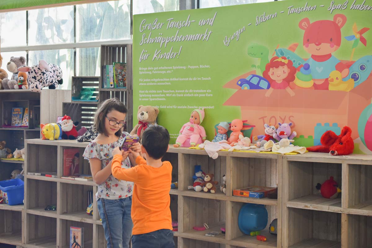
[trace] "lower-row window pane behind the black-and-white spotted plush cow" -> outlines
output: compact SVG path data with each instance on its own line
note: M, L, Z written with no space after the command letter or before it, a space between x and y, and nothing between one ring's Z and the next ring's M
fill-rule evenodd
M30 51L29 65L39 64L40 59L44 59L49 64L55 64L61 67L63 71L63 84L58 86L58 89L70 90L71 77L74 75L74 50L45 50L45 51Z

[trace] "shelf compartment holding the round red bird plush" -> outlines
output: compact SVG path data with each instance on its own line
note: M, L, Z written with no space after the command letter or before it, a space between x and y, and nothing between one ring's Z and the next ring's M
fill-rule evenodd
M341 189L341 164L288 161L288 181L283 182L289 185L287 206L340 213L341 194L326 199L316 189L318 183L323 184L331 176Z

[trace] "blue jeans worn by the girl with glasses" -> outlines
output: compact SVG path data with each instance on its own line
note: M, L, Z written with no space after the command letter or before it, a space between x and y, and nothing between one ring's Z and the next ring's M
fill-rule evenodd
M107 248L129 248L133 228L132 196L118 200L100 198L97 207L105 231Z

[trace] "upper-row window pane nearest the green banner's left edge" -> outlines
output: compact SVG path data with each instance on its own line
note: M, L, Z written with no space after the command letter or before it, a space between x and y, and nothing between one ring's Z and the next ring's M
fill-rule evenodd
M79 42L129 39L130 9L130 0L77 5L76 40Z

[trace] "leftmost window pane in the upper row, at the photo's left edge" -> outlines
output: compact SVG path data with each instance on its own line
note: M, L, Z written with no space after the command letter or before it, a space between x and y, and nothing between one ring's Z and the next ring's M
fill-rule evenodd
M0 13L0 36L2 47L25 46L26 11Z

